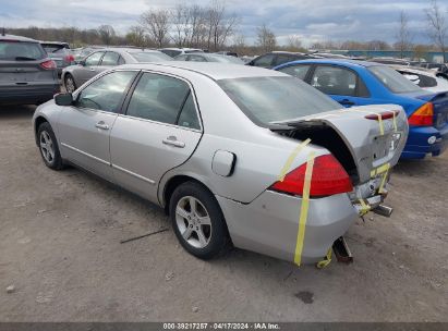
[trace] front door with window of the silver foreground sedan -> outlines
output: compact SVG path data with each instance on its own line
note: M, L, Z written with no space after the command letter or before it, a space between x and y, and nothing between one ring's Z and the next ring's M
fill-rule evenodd
M58 128L64 159L112 180L110 131L136 73L117 71L101 76L75 96L72 107L61 111Z

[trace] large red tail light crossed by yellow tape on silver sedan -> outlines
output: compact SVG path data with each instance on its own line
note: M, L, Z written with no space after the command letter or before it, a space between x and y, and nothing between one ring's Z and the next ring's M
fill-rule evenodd
M270 189L303 195L306 163L289 172L282 182L276 182ZM322 197L353 191L349 174L332 155L314 160L310 196Z

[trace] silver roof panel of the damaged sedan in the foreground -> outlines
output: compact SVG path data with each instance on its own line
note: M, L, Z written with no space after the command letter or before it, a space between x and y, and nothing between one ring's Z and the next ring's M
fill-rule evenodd
M160 63L130 63L123 64L120 68L161 71L166 69L167 72L169 72L170 69L175 69L185 72L194 72L197 74L202 74L214 81L242 77L288 76L283 73L274 70L217 62L169 61Z

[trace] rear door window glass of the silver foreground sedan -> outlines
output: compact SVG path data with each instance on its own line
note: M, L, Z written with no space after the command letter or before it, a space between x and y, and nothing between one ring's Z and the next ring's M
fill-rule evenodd
M178 78L144 73L128 107L128 115L145 120L194 127L194 108L189 85ZM181 119L180 113L182 110ZM197 121L197 115L196 115Z

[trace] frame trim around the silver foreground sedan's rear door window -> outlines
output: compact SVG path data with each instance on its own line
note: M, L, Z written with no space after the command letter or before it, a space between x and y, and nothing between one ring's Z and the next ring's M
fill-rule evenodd
M168 76L168 77L181 79L184 83L186 83L189 85L190 93L193 96L194 108L196 110L196 117L199 120L201 128L186 127L186 126L182 126L182 125L179 125L179 124L170 124L170 123L166 123L166 122L159 122L159 121L154 121L154 120L149 120L149 119L142 119L142 118L129 115L128 114L129 103L131 102L131 98L134 94L134 90L135 90L140 79L142 78L144 73ZM187 96L190 95L190 93L186 95L186 98L182 102L182 107L180 108L179 113L178 113L177 119L175 119L177 122L178 122L178 119L179 119L180 114L182 113L183 106L185 105L185 101L186 101ZM122 112L120 112L119 115L130 118L130 119L135 119L135 120L138 120L138 121L160 124L160 125L165 125L165 126L171 126L171 127L178 127L178 128L182 128L182 130L186 130L186 131L194 131L194 132L198 132L198 133L204 133L203 119L202 119L202 115L201 115L199 105L197 102L196 91L193 87L193 84L191 84L191 82L189 79L184 78L184 77L181 77L181 76L178 76L178 75L171 74L171 73L160 72L160 71L157 71L157 70L147 70L146 69L146 70L141 71L141 73L136 76L136 78L134 79L134 83L131 85L131 88L129 89L129 91L126 94L125 100L122 103Z

